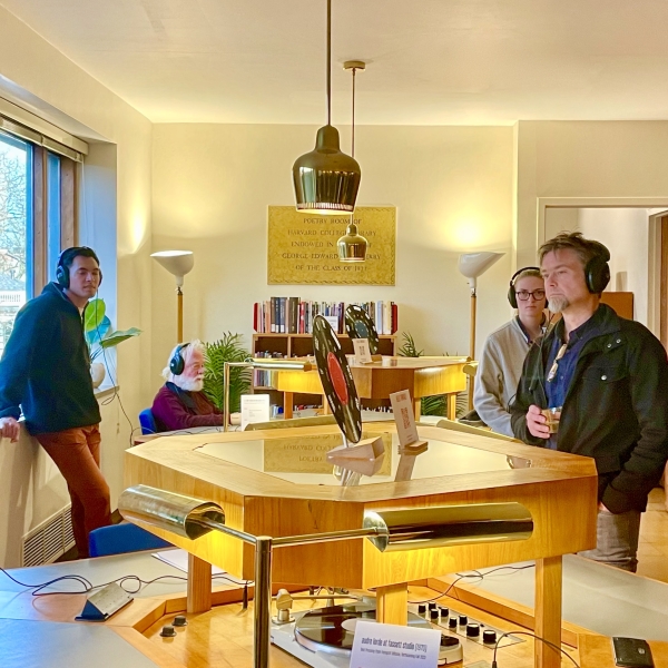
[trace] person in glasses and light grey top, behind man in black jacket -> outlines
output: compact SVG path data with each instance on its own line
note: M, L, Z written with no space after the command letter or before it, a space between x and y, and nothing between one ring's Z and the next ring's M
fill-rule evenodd
M542 336L547 320L546 286L538 267L524 267L512 275L508 302L518 314L484 342L475 374L473 406L492 431L512 436L509 404L529 347Z

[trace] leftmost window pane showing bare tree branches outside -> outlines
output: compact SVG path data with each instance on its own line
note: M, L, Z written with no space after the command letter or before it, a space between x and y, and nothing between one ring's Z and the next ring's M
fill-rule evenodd
M0 353L26 303L30 147L0 135Z

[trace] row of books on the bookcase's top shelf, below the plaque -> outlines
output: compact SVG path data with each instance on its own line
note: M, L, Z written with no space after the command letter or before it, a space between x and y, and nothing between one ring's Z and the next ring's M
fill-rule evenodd
M353 302L362 306L379 334L394 334L399 313L394 302ZM312 334L313 318L324 315L337 334L345 333L344 302L302 302L298 297L272 297L253 305L253 328L261 334Z

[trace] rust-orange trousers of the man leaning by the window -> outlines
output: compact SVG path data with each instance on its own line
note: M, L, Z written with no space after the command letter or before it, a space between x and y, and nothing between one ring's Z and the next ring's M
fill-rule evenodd
M100 430L97 424L67 429L36 439L67 482L72 500L72 531L79 559L88 557L88 533L111 523L109 485L100 471Z

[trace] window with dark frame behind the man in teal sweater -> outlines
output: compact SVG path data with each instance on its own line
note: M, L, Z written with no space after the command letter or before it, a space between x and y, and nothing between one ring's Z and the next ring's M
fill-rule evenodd
M0 354L19 308L55 281L61 248L77 243L76 163L30 132L0 129Z

